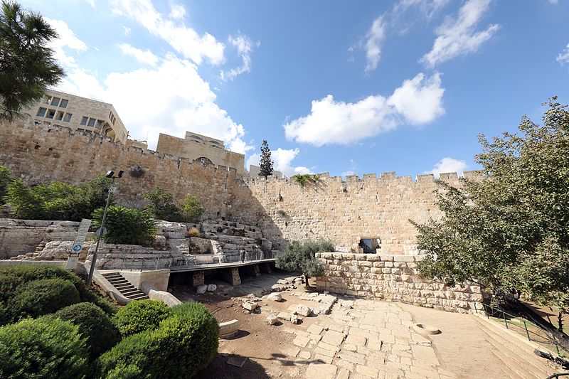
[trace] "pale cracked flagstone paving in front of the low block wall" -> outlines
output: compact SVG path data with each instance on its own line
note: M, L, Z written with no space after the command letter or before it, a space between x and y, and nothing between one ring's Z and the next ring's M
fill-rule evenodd
M339 299L306 330L285 328L295 338L283 353L304 378L455 378L412 324L397 304Z

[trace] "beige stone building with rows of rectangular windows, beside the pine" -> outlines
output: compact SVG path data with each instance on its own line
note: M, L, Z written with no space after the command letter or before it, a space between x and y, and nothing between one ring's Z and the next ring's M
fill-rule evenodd
M110 137L113 142L127 142L127 129L115 107L107 102L47 90L40 101L23 113L28 114L38 124L85 130Z

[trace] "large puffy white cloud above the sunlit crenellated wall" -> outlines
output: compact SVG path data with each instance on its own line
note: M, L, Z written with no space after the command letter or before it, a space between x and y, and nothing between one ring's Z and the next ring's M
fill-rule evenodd
M402 124L426 124L445 113L440 75L419 73L393 95L371 95L358 102L339 102L328 95L312 101L309 115L287 122L289 140L322 146L351 144L396 129Z

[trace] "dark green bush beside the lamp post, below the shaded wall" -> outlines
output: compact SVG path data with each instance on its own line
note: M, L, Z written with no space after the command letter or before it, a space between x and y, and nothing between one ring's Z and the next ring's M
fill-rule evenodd
M100 228L104 209L98 208L92 213L93 226ZM107 233L102 239L108 243L150 246L154 241L156 225L146 210L124 208L112 205L107 210L105 220Z

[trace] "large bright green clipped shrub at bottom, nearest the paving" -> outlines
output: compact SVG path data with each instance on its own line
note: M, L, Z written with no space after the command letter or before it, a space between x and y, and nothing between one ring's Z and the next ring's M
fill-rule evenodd
M97 361L105 378L191 378L218 349L219 326L205 306L174 306L158 329L124 338Z

